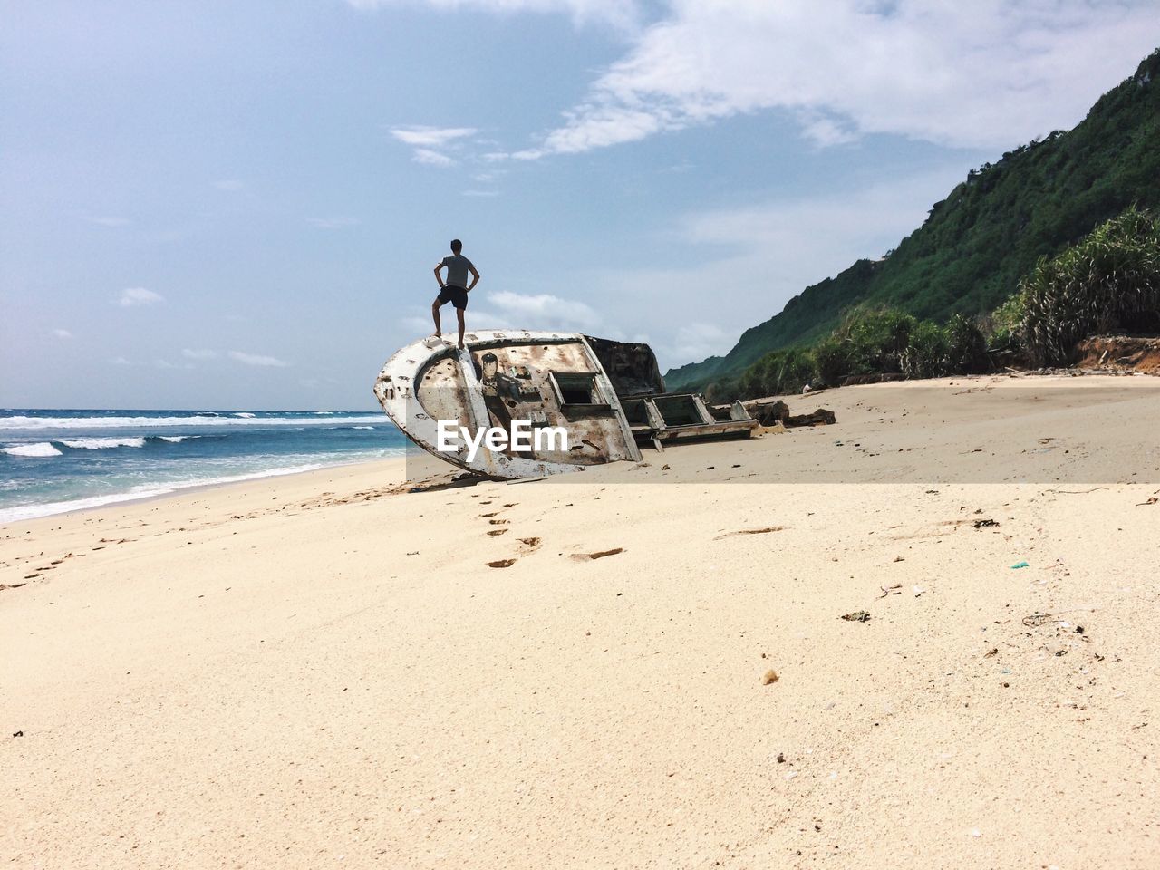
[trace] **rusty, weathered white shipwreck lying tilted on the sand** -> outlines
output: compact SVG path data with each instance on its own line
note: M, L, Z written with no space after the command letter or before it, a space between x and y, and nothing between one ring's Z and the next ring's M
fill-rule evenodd
M666 392L644 343L521 329L471 332L464 343L407 345L383 365L375 396L412 442L465 471L545 477L759 427L738 401Z

